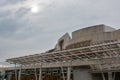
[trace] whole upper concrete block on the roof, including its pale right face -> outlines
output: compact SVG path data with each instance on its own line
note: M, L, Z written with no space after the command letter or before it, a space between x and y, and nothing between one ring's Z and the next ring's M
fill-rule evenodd
M94 25L72 32L72 40L70 44L83 41L92 41L92 43L100 43L105 40L114 40L114 28L100 24Z

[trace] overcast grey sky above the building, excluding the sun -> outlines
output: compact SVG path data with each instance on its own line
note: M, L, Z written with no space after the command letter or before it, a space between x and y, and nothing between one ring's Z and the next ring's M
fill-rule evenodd
M120 0L0 0L0 61L52 49L63 34L83 27L118 29L119 21Z

